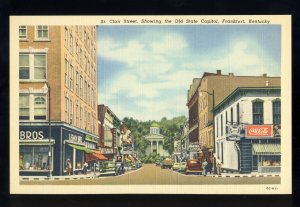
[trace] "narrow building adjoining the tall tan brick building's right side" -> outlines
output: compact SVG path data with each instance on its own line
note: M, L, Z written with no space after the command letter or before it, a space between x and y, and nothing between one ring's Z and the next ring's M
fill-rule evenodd
M121 146L121 120L104 104L98 105L98 120L101 123L98 145L106 156L114 159Z

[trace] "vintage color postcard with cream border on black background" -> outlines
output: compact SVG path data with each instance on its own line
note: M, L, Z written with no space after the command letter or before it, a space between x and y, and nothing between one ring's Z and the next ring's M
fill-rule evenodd
M291 194L291 16L11 16L11 194Z

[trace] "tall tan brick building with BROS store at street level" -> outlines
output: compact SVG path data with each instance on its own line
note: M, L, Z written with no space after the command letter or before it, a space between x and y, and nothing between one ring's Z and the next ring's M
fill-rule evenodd
M95 26L19 26L20 174L82 168L97 148Z

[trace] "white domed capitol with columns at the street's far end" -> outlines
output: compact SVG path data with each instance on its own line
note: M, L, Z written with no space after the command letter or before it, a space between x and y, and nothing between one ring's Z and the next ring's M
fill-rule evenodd
M160 156L169 156L169 152L164 150L164 136L160 134L159 125L153 122L150 126L150 134L144 137L148 141L146 155L151 153L160 154Z

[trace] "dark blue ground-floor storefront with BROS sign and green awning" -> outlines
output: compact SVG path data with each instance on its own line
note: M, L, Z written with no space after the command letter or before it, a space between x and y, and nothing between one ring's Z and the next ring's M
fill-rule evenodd
M96 150L97 142L95 135L65 124L51 123L51 127L45 123L21 124L20 175L48 176L50 171L54 176L66 175L68 160L72 174L79 174L86 154Z

